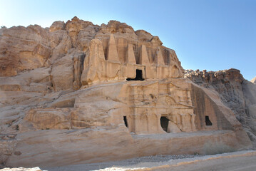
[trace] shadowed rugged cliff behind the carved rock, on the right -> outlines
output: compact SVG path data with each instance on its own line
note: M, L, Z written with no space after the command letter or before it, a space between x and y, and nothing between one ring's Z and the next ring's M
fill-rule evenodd
M235 113L256 145L256 86L253 83L245 80L240 71L233 68L216 72L187 70L185 78L208 90L217 91L222 102Z

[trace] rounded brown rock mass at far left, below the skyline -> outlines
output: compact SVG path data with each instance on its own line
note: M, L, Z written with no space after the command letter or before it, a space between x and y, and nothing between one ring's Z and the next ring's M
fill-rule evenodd
M1 28L0 76L16 76L21 71L41 68L50 56L47 28L37 25Z

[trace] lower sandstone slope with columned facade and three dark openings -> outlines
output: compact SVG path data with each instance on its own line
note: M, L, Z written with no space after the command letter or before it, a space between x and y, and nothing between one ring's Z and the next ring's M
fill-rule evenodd
M15 137L14 151L20 155L12 152L6 165L74 165L250 147L232 111L206 90L197 87L202 95L193 94L195 87L188 80L170 78L101 83L63 93L47 108L26 112ZM209 115L212 126L205 125L205 113L193 111L193 98L203 95L210 101L205 109L214 109ZM66 102L71 97L73 105ZM164 125L161 118L168 123Z

